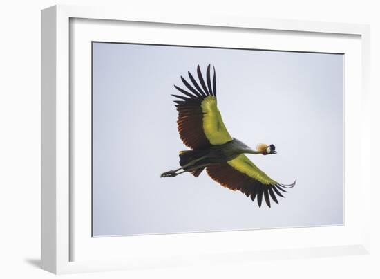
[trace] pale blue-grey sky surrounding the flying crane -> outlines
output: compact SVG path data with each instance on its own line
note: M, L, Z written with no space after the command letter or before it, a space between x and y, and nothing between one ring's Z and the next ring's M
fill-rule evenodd
M343 55L93 44L93 233L130 235L343 224ZM249 155L291 183L267 208L203 172L160 178L187 150L170 94L180 75L216 68L230 134L273 143Z

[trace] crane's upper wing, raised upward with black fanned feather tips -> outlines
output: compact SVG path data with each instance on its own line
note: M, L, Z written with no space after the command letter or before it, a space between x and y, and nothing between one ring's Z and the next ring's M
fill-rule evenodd
M183 95L172 95L178 111L178 132L183 143L192 149L201 149L210 145L221 145L232 141L222 116L216 106L216 74L213 69L211 84L210 65L207 66L206 82L202 77L200 66L197 73L200 85L189 72L191 84L182 76L181 80L187 90L176 85Z

